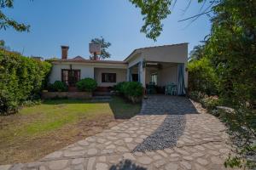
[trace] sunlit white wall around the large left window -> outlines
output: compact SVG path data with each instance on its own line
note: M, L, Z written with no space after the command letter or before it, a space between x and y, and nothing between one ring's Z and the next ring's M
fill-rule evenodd
M49 82L61 81L61 69L70 69L70 64L54 64L49 75ZM72 69L80 70L81 79L90 77L94 78L94 66L93 65L72 65Z

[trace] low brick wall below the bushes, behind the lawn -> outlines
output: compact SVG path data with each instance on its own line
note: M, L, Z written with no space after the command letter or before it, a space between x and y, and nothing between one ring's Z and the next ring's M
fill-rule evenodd
M42 99L91 99L91 92L43 92Z

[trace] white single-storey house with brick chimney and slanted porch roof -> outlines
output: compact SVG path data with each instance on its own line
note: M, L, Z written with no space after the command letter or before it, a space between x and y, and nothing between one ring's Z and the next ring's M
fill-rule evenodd
M93 60L77 56L67 58L67 46L61 46L61 59L52 61L49 82L57 80L72 87L80 79L94 78L101 88L112 87L118 82L141 82L146 88L149 82L165 87L177 84L178 94L188 87L188 43L137 48L123 61Z

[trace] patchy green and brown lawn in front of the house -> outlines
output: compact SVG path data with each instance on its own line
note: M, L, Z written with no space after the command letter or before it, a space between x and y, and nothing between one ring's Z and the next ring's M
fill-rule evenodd
M140 111L119 97L110 102L47 100L0 116L0 164L36 161L54 150L112 127Z

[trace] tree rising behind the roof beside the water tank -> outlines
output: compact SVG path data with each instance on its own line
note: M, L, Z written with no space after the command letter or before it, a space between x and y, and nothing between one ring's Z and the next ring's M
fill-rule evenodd
M105 42L103 37L101 38L94 38L90 42L97 43L101 45L101 54L99 56L100 59L108 59L110 58L111 54L108 53L107 48L111 46L110 42Z

